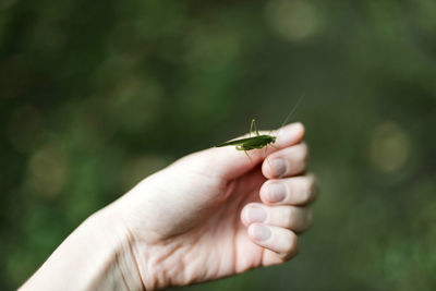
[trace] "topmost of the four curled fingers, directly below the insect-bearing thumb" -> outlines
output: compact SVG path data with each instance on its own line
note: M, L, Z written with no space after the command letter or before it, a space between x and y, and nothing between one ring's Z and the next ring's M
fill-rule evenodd
M308 150L304 143L287 147L268 156L262 165L267 179L291 177L306 169Z

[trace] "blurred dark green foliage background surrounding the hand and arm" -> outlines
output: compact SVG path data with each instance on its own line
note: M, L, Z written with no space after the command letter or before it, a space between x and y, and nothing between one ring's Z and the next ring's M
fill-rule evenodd
M323 193L300 255L186 290L435 289L435 1L1 0L0 289L302 94Z

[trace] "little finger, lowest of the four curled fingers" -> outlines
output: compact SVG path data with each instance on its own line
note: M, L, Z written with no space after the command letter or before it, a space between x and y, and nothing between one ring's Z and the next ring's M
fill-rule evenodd
M255 244L275 252L282 259L298 253L296 234L289 229L253 223L249 227L249 235Z

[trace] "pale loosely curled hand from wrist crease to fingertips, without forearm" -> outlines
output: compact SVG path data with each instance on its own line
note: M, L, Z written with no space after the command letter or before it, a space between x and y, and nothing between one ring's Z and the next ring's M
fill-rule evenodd
M275 146L186 156L148 177L108 207L129 233L130 268L147 290L185 286L283 263L313 220L314 178L300 123ZM272 133L275 135L275 133Z

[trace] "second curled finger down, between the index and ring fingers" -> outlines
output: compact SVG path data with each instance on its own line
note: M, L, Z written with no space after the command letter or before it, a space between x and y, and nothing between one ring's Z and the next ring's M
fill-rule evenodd
M268 180L261 187L261 199L268 205L306 205L318 195L318 183L313 174Z

